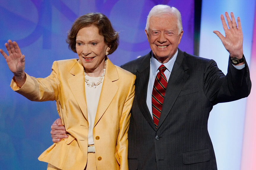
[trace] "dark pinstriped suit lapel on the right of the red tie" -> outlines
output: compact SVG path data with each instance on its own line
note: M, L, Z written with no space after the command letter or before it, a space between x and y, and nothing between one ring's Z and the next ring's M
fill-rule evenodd
M170 113L173 104L175 103L179 93L181 92L184 83L189 77L188 69L189 67L187 66L184 54L178 49L178 56L173 65L173 69L165 91L165 99L157 129L159 129L161 124L164 122L166 116Z

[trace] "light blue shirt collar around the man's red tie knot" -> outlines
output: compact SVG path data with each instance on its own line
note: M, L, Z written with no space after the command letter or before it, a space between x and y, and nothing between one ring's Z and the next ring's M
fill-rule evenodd
M169 72L171 72L173 69L173 65L177 58L177 55L178 55L178 49L177 49L176 53L172 56L172 58L167 63L164 63L164 66L167 68L167 70ZM152 73L154 75L157 72L157 69L162 65L162 63L157 61L157 59L154 57L153 52L151 52L151 56L153 56L153 57L151 57L151 69L152 69Z

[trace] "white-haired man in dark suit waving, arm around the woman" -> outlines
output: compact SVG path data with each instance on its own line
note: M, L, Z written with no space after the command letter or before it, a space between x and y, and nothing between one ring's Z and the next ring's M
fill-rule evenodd
M251 89L240 18L237 25L230 15L225 12L227 24L221 15L225 37L214 31L230 53L225 76L215 61L178 49L183 34L178 9L157 5L149 12L145 32L152 51L121 66L137 77L128 131L129 169L217 169L207 130L209 113L217 103L247 97ZM60 120L51 134L54 142L66 137Z

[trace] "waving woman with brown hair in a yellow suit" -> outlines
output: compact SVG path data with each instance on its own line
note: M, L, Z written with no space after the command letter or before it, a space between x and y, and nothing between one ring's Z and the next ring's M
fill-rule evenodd
M78 17L67 37L79 59L54 61L51 74L24 72L25 56L16 42L0 49L14 77L11 88L31 101L55 100L69 133L39 156L48 170L128 169L127 131L135 75L113 65L107 55L118 46L118 33L101 13Z

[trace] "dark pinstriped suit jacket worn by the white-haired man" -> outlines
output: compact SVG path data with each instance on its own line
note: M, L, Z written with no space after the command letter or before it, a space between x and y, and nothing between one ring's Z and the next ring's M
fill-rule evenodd
M225 76L215 61L178 49L156 129L146 104L150 58L151 52L122 66L137 77L128 130L129 169L216 170L209 113L217 103L249 95L247 64L238 70L229 61Z

